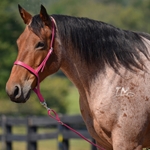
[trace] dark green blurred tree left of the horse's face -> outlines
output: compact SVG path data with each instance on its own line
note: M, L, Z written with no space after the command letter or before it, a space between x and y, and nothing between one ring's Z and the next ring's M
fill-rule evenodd
M16 39L22 31L14 2L1 1L0 9L0 95L5 97L5 84L16 56Z

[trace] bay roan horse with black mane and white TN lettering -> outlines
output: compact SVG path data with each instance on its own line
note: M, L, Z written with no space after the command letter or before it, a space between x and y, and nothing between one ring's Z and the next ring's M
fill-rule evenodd
M97 144L106 150L150 147L150 35L87 18L49 16L43 6L33 17L20 6L19 12L26 28L17 40L17 60L36 69L55 24L54 49L40 81L59 69L66 74L78 88L83 119ZM36 85L32 72L14 65L6 91L22 103Z

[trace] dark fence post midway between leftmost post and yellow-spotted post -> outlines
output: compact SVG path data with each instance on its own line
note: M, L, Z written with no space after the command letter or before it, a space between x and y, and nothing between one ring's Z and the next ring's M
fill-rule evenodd
M30 118L27 120L27 130L28 130L28 136L27 136L27 150L37 150L37 142L32 141L32 134L37 132L36 126L30 126Z

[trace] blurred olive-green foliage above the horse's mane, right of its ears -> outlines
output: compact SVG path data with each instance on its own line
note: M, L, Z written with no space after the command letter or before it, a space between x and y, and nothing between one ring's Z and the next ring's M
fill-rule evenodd
M149 0L57 0L48 8L50 14L88 17L122 29L150 32Z

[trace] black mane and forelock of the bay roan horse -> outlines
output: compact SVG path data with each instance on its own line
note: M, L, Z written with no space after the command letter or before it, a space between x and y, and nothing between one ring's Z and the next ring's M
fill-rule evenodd
M142 36L150 39L148 34L121 30L88 18L64 15L52 15L52 17L56 21L64 46L67 48L71 44L74 53L79 54L87 64L94 64L101 69L105 69L108 64L116 71L121 66L134 70L134 67L143 69L144 66L139 52L149 58L147 47L142 39ZM35 32L40 31L38 28L42 27L39 18L39 16L33 17L31 23Z

